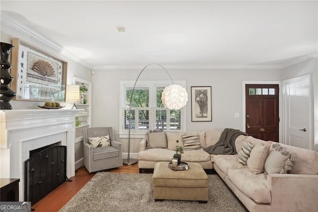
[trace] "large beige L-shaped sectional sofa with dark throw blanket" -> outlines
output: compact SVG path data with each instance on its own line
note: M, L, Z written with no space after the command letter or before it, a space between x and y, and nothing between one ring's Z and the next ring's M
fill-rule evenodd
M200 133L201 148L185 151L182 154L182 161L197 162L208 171L214 169L248 211L318 211L318 152L280 144L280 148L287 149L297 157L293 161L292 169L288 171L288 174L267 174L264 172L253 174L247 165L239 163L237 154L209 155L203 150L203 148L213 145L219 140L222 130L186 133ZM175 153L173 150L167 148L146 149L146 140L145 137L140 143L140 172L145 169L153 169L159 161L171 161ZM254 146L266 146L268 152L273 151L272 147L275 143L240 135L235 142L237 152L241 150L246 141ZM275 163L273 165L276 165Z

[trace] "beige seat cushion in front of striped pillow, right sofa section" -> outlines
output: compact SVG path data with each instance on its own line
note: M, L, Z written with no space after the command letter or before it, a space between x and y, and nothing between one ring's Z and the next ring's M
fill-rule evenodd
M241 169L246 167L239 163L237 155L214 155L213 163L218 166L225 175L228 175L229 169Z

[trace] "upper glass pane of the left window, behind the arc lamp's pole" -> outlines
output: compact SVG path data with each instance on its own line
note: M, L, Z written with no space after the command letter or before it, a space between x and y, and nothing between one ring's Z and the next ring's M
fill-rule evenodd
M133 88L126 90L126 106L130 105L130 98ZM149 89L148 88L135 88L132 100L132 107L149 107Z

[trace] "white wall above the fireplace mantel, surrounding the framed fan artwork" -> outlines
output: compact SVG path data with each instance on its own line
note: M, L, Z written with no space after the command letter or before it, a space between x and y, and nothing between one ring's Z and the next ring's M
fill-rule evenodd
M51 53L55 55L56 57L59 57L65 61L68 62L68 73L67 73L67 85L73 84L73 78L79 77L87 81L92 81L91 77L91 70L87 67L82 66L81 64L65 57L61 54L61 52L57 52L46 45L32 39L29 36L26 36L25 34L7 26L6 24L1 23L1 34L0 34L0 40L1 42L5 43L12 43L12 38L20 38L21 40L32 44L33 46L36 46L37 48L40 48L48 53ZM11 55L10 55L11 56ZM14 79L16 80L16 79ZM13 109L39 109L38 105L44 105L43 102L34 102L34 101L10 101L10 104ZM65 108L71 108L72 104L63 103L63 106L66 106Z

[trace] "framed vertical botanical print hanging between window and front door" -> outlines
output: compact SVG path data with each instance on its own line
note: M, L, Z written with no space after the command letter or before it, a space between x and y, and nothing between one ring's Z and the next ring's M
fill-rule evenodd
M212 121L211 86L191 86L191 121Z

